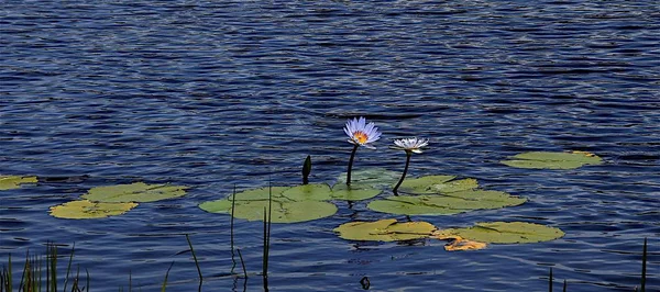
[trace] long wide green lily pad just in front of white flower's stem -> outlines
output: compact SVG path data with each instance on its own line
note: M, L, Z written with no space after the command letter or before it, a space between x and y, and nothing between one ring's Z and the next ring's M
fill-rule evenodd
M367 207L400 215L452 215L474 210L501 209L526 200L499 191L461 191L449 194L398 195L369 203Z

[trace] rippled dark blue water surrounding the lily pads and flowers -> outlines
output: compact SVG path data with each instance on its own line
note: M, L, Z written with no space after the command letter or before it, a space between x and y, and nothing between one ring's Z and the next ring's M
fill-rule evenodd
M89 176L0 193L0 260L76 244L94 291L243 291L230 274L229 216L197 207L239 189L333 182L351 146L346 117L377 123L378 150L355 169L400 170L395 137L430 137L411 175L472 177L528 203L437 226L526 221L566 236L447 252L444 242L355 243L332 228L386 214L339 203L332 217L274 225L270 289L631 291L649 237L659 291L660 5L648 1L2 1L0 172ZM576 170L501 165L527 150L587 150ZM47 210L89 188L193 187L122 216L66 221ZM261 290L260 223L237 246ZM65 252L65 251L62 251ZM240 268L239 268L240 269ZM169 291L168 290L168 291Z

